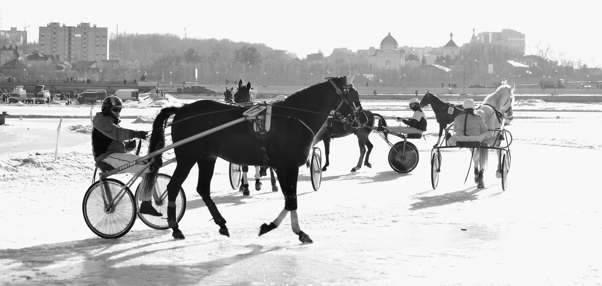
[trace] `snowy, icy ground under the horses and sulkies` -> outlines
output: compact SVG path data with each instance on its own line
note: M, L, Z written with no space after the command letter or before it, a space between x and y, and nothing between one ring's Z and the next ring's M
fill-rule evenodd
M128 102L122 125L149 130L158 106L181 103L173 97ZM407 102L363 105L384 115L409 115ZM486 188L476 189L470 177L464 184L467 150L442 153L439 186L432 189L429 155L438 127L430 109L430 135L412 140L420 162L409 174L389 167L389 147L375 133L373 167L352 173L356 138L335 139L320 190L312 190L308 169L300 169L299 221L311 245L297 240L288 218L258 237L259 225L282 210L282 194L272 193L262 178L263 189L243 197L229 186L223 160L211 187L231 237L220 236L197 195L194 168L183 186L185 240L139 220L121 239L96 237L81 213L94 171L85 118L90 107L0 108L40 115L7 118L8 125L0 126L3 285L602 284L597 104L517 102L507 127L514 142L505 192L493 172L494 153ZM58 117L64 119L54 160Z

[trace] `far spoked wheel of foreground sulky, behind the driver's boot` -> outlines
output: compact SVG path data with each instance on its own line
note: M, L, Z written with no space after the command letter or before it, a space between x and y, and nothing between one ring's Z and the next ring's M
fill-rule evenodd
M148 225L155 230L167 230L169 226L167 225L167 184L172 179L170 175L166 174L157 174L157 180L155 181L155 186L152 190L152 206L163 214L163 216L151 216L150 214L138 213L138 218L140 221L144 222L145 225ZM140 201L140 192L141 192L140 184L136 188L136 202L139 204ZM178 198L176 198L176 219L178 222L184 216L184 212L186 211L186 194L184 193L184 189L180 187Z

